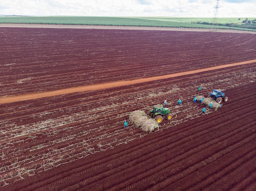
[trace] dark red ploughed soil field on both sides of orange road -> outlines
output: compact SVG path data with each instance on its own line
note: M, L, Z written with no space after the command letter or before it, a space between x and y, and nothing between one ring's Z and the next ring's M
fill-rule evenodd
M0 190L256 189L255 34L0 27L0 39L0 100L46 95L1 103ZM202 115L198 86L229 100ZM124 128L164 100L171 122Z

